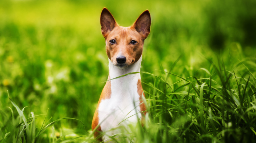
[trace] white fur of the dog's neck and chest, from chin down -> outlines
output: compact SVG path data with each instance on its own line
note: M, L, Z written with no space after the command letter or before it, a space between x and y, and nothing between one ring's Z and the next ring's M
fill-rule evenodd
M140 70L141 59L126 69L119 69L109 60L110 79ZM118 133L111 130L118 126L136 124L140 119L139 94L137 83L140 74L130 74L111 80L111 97L100 102L98 107L98 117L103 135L103 140ZM111 130L111 131L109 131Z

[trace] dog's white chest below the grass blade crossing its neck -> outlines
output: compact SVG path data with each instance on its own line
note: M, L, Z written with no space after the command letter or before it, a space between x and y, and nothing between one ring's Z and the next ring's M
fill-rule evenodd
M112 80L111 97L99 104L98 117L103 132L120 125L137 123L141 117L137 78L126 82L127 78Z

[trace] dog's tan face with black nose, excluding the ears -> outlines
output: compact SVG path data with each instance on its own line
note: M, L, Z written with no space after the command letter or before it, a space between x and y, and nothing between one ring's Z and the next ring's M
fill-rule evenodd
M131 27L115 27L106 37L106 52L112 63L125 68L137 62L144 39Z

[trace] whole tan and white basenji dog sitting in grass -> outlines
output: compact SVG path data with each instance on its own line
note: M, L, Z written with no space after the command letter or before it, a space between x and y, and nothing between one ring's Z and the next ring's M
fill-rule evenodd
M109 58L109 76L94 113L92 130L97 127L94 137L99 141L109 141L119 133L115 128L136 124L146 114L139 71L151 18L145 10L132 26L122 27L109 10L103 8L100 25ZM128 74L131 72L138 73ZM121 76L125 74L128 75Z

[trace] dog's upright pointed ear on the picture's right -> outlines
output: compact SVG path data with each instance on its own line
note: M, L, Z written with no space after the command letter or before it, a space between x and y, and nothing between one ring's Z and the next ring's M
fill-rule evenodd
M139 18L132 25L145 39L150 33L151 18L148 10L140 14Z

